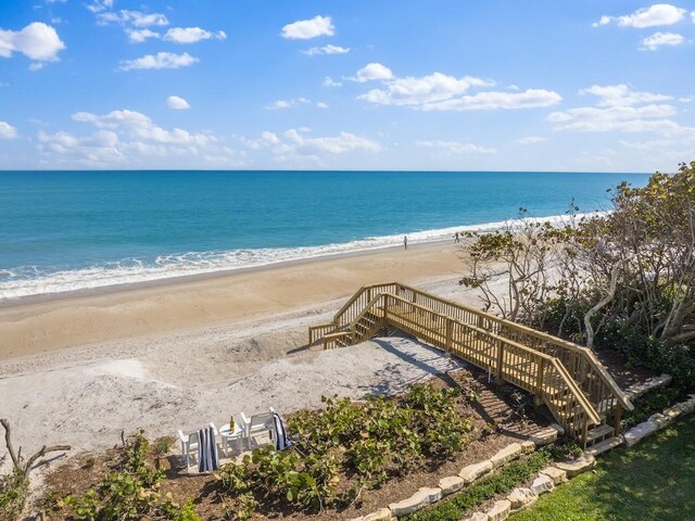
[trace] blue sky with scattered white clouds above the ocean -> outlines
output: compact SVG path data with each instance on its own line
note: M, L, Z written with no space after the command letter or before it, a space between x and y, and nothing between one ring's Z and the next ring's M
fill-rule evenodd
M0 0L0 169L673 171L695 0Z

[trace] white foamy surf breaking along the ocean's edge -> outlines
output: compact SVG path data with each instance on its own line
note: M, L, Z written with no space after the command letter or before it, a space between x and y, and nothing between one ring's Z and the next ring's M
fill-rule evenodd
M581 214L578 217L593 214ZM551 221L554 225L568 223L567 216L539 217L534 220ZM75 290L132 284L160 279L190 275L212 274L268 266L273 264L340 255L351 252L382 250L403 244L407 236L408 244L452 240L455 232L494 231L515 221L485 223L480 225L454 226L434 230L408 231L391 236L368 237L346 243L300 247L266 247L254 250L231 250L228 252L188 252L161 255L148 264L138 258L125 258L117 263L106 263L89 268L60 270L42 274L35 266L17 269L0 269L0 301L30 295L60 293Z

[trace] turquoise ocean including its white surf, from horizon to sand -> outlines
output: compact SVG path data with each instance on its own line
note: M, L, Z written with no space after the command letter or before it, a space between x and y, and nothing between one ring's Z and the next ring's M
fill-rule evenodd
M448 239L606 209L633 174L0 171L0 298Z

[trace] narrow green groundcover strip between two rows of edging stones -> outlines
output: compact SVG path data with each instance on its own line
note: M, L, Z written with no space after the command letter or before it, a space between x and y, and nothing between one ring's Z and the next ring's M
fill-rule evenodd
M478 505L500 494L510 492L530 480L552 460L551 453L542 448L523 459L513 461L501 471L488 475L462 492L448 496L437 505L419 510L405 519L408 521L458 521Z

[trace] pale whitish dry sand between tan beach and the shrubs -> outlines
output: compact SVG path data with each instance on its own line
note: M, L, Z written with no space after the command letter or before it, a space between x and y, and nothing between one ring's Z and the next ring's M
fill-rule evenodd
M15 440L34 452L67 443L71 454L115 445L122 430L175 435L230 414L320 406L321 395L362 398L394 393L456 366L435 350L406 339L377 339L344 350L303 351L238 372L243 348L220 348L217 359L175 363L187 378L163 378L159 355L103 359L0 380L2 415ZM181 373L179 373L179 377ZM2 450L0 449L0 455ZM0 456L1 457L1 456Z

